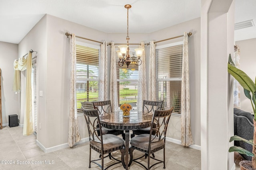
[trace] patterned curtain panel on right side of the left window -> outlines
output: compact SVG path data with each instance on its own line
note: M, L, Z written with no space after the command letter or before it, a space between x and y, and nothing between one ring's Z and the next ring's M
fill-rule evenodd
M107 42L100 45L99 101L108 100L108 55Z

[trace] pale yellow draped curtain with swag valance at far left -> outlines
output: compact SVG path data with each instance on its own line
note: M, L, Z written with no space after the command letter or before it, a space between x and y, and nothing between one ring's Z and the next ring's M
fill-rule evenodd
M24 112L24 125L23 135L31 135L33 133L33 121L32 121L32 84L31 84L31 72L32 72L32 53L29 52L27 57L20 57L14 61L14 92L20 92L20 71L26 70L26 99L25 99L25 112Z

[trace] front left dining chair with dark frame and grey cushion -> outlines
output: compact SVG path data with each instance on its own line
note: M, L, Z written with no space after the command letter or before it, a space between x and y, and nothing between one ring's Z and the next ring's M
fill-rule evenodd
M85 110L82 107L82 111L84 113L84 117L86 119L86 124L88 127L88 134L89 134L89 140L90 140L90 157L89 157L89 168L91 168L91 162L97 164L102 170L104 169L104 158L111 156L111 152L120 150L121 152L121 160L117 160L116 158L112 157L115 161L115 163L109 165L113 166L118 163L122 163L122 165L125 167L124 164L124 140L120 137L117 137L116 135L112 134L106 134L103 135L102 133L102 127L100 123L100 118L98 114L98 110ZM100 132L100 135L98 135L98 132ZM99 159L91 160L91 149L98 152L101 156ZM104 157L104 154L108 154ZM97 160L101 160L101 165L96 162ZM105 168L105 169L107 169Z

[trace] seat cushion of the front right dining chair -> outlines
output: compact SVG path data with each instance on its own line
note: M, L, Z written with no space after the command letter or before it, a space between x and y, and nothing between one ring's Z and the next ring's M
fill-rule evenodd
M151 139L153 139L154 137L155 136L152 135ZM158 141L158 137L156 137L153 141ZM133 137L130 140L131 145L144 150L148 150L148 142L149 142L149 134L138 135L136 137ZM164 145L164 140L161 140L156 143L151 143L151 150L161 147L162 145Z

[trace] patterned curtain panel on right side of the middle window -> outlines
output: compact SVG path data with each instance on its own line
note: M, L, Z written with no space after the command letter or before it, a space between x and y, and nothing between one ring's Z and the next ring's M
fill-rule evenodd
M141 42L140 48L144 49L142 56L140 57L142 63L138 66L138 100L137 100L137 110L142 111L143 100L147 100L147 82L146 82L146 55L145 55L145 45Z

